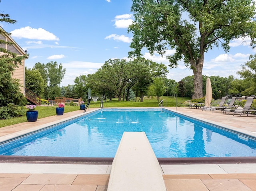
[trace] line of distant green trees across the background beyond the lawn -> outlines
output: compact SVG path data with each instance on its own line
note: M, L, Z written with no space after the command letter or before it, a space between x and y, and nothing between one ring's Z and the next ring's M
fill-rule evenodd
M255 68L256 56L250 56L250 61L242 65L242 70L237 72L242 79L234 79L232 75L229 77L203 75L203 96L207 77L211 80L214 99L223 96L255 95ZM118 100L143 102L143 96L156 96L159 101L162 95L193 98L194 76L187 76L176 82L167 79L167 73L164 64L146 59L132 61L109 59L94 74L80 75L74 80L74 85L60 87L65 74L62 65L56 62L36 63L33 69L26 69L25 86L42 98L64 96L86 99L88 88L92 89L92 96L99 96L105 101L116 97Z

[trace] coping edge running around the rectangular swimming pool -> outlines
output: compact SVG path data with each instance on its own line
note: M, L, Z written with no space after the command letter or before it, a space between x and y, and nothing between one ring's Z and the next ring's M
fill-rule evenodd
M152 109L158 107L142 107L144 109ZM77 114L75 116L70 116L65 119L56 120L54 122L49 122L40 126L36 126L30 128L28 130L22 130L20 132L16 132L10 135L0 137L0 143L4 143L6 141L18 138L20 136L25 136L27 134L31 134L38 130L42 130L44 128L48 128L52 125L57 125L62 122L66 122L68 120L72 120L74 118L78 118L80 116L86 115L91 112L95 112L97 110L101 110L102 108L96 108L95 110L84 112L81 114ZM104 109L119 109L119 108L104 108ZM126 108L122 108L126 109ZM138 107L141 109L141 107ZM244 134L253 138L256 138L256 134L253 132L249 132L247 130L241 130L239 128L229 126L226 124L214 122L211 120L206 120L203 118L195 118L194 116L190 116L189 114L184 114L182 112L163 108L165 110L169 110L171 112L175 112L185 117L192 118L194 120L199 120L202 122L206 122L208 124L213 124L215 126L220 126L222 128L226 128L227 130L231 130L238 134ZM0 163L83 163L83 164L102 164L102 165L111 165L114 158L84 158L84 157L41 157L41 156L0 156ZM212 157L212 158L157 158L160 164L216 164L216 163L256 163L256 157Z

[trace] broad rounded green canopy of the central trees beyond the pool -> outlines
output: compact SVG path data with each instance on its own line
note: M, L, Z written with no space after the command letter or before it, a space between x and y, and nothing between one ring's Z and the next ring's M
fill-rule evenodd
M88 75L88 86L94 93L108 96L111 100L113 96L125 97L129 100L130 89L141 96L146 95L153 77L165 77L167 67L146 59L134 59L126 61L124 59L109 59L98 71Z

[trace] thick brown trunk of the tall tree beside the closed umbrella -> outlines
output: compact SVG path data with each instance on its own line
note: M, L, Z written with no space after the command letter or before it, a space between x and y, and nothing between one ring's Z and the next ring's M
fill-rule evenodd
M202 69L204 61L201 59L196 67L193 67L194 73L194 96L193 99L199 99L203 97L203 78L202 78Z

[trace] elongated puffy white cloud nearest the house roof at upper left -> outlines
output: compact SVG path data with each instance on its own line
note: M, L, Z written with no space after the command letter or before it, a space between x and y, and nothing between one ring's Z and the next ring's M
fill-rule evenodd
M59 38L56 37L53 33L50 33L42 28L35 29L29 26L20 29L15 29L10 33L12 33L12 37L16 37L18 39L27 38L37 40L59 40Z

